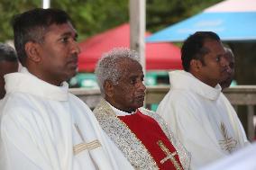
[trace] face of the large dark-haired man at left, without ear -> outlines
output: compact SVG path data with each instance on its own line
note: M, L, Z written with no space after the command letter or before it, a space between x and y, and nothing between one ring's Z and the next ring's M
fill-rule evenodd
M76 75L80 49L77 32L70 22L50 25L39 52L42 80L60 85Z

